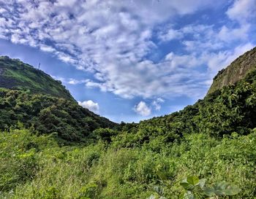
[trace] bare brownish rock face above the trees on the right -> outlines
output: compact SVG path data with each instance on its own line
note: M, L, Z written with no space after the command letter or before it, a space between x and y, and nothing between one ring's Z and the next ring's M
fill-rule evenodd
M220 88L233 85L243 79L249 71L256 69L256 47L249 50L233 61L226 69L219 71L208 93L213 93Z

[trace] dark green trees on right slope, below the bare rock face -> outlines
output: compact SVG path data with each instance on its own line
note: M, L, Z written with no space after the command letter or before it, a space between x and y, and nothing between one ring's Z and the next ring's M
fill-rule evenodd
M223 138L232 133L247 135L256 127L256 71L243 80L206 95L180 112L154 117L139 124L121 124L113 141L121 147L135 147L152 140L172 143L185 134L207 133Z

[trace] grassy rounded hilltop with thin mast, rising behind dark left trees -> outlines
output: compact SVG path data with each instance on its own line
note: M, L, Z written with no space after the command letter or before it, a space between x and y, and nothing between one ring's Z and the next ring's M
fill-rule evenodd
M7 56L0 57L0 87L29 90L31 93L48 94L75 101L60 81L27 63Z

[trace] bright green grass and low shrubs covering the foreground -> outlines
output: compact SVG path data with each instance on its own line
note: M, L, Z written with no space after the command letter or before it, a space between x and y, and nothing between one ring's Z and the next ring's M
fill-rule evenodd
M25 129L0 135L1 199L148 198L155 191L178 198L184 187L205 198L203 191L234 192L229 184L215 184L224 180L240 187L233 198L256 195L256 130L223 139L187 134L159 152L147 146L116 149L105 141L59 147L52 136Z

